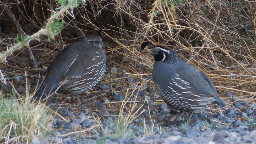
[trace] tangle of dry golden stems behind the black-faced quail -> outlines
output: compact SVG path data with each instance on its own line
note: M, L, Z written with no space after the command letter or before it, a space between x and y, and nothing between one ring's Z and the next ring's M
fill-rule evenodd
M119 56L118 66L126 67L129 76L141 78L142 74L151 73L153 59L149 58L148 51L139 49L143 40L177 45L182 59L214 81L222 99L230 99L223 96L231 91L241 99L254 101L255 2L180 2L101 1L92 2L91 9L83 11L93 11L96 21L107 12L113 14L106 19L113 19L114 24L100 25L94 21L91 26L104 28L105 39L111 41L106 50L108 58ZM90 18L83 16L84 22L92 21ZM137 63L143 64L143 69L137 69Z

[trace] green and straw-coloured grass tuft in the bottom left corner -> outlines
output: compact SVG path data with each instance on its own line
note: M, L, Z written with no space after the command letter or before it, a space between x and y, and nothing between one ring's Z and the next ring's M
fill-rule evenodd
M44 104L31 103L32 96L29 86L25 95L19 95L14 86L8 98L0 92L1 143L31 143L51 130L53 117Z

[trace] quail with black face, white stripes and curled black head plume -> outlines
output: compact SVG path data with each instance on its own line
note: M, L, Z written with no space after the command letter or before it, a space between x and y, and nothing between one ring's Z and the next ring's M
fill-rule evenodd
M141 49L148 44L151 43L143 42ZM150 55L155 58L152 77L157 90L165 103L180 111L173 123L183 111L190 112L191 116L192 112L201 112L215 102L226 106L210 78L182 61L173 49L156 45Z

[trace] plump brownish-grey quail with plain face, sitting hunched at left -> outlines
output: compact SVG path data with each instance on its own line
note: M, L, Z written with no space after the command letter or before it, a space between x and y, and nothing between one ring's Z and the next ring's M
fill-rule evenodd
M53 60L34 98L43 100L59 87L59 94L78 94L91 90L103 77L105 44L99 36L87 36L67 46Z

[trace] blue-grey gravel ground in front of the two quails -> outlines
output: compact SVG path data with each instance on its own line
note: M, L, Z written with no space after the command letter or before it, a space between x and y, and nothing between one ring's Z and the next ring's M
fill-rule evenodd
M129 80L131 81L131 80ZM106 85L100 85L100 90L109 89ZM153 104L148 93L156 93L149 87L144 87L137 91L140 96L137 100L148 100L149 111L153 119L155 119L154 127L149 117L148 107L138 102L139 106L146 109L137 119L135 119L124 132L122 138L117 132L117 116L118 112L109 108L109 103L118 102L124 99L122 94L115 94L112 99L97 98L93 100L93 104L98 110L91 110L88 104L83 104L79 111L72 111L72 106L60 107L58 113L69 119L69 123L63 121L56 116L54 123L55 131L49 133L46 139L40 139L40 143L63 143L63 144L93 144L93 143L127 143L127 144L146 144L146 143L255 143L256 128L249 125L247 121L253 121L256 114L255 104L243 101L234 102L227 108L218 109L216 106L211 111L205 111L201 114L193 114L189 124L186 125L188 114L183 114L183 119L175 125L165 125L169 119L175 118L175 113L166 104ZM136 92L135 92L136 93ZM154 94L157 97L157 94ZM233 95L227 93L226 96ZM93 98L95 95L90 95ZM159 98L158 98L159 99ZM235 99L235 98L234 98ZM55 104L58 104L58 101ZM145 105L145 104L144 104ZM119 103L120 106L120 103ZM57 111L55 107L49 105L50 108ZM111 106L110 106L111 107ZM124 115L126 112L124 112ZM99 116L102 127L105 132L96 127L81 134L70 134L74 131L83 131L97 125L97 121L92 117ZM145 125L144 125L145 123ZM251 122L253 124L253 122ZM152 130L152 131L151 131ZM67 135L65 135L67 134ZM34 141L33 143L38 143Z

